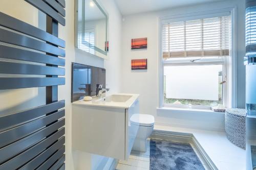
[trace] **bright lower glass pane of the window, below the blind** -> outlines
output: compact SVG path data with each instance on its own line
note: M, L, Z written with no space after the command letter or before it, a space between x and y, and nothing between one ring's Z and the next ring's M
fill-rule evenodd
M164 66L164 103L222 104L223 65Z

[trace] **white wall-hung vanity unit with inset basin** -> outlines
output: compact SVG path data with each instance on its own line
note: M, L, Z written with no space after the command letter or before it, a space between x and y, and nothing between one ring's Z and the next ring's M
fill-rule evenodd
M105 157L128 159L138 126L130 123L139 113L138 94L113 94L92 101L76 101L72 106L72 146L74 150Z

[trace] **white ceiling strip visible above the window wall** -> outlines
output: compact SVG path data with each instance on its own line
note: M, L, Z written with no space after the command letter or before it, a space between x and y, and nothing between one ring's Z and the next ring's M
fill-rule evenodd
M217 2L221 0L115 0L122 15L158 11L168 8Z

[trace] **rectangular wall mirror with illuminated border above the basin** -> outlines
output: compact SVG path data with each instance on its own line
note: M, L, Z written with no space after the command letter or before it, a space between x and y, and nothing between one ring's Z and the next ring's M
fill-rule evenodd
M75 46L106 58L109 51L108 15L96 0L76 0Z

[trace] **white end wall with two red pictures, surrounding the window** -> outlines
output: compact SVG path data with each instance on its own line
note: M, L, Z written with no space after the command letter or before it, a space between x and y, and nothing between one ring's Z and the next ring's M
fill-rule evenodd
M189 7L180 7L165 11L140 13L123 16L122 25L122 64L121 64L121 91L140 94L140 111L144 114L155 116L159 125L185 126L190 128L223 130L224 114L212 113L203 116L200 112L185 112L157 110L159 107L159 17L179 14L189 14L200 11L209 11L223 8L237 8L237 62L238 83L237 99L238 107L245 107L245 67L243 57L245 55L245 1L233 0L216 3L201 4ZM147 50L131 51L131 39L147 37ZM131 70L131 59L147 58L147 70ZM207 114L207 113L203 113ZM216 116L215 116L216 115ZM195 116L194 119L191 117ZM214 118L214 120L213 120ZM196 125L196 126L195 126Z

